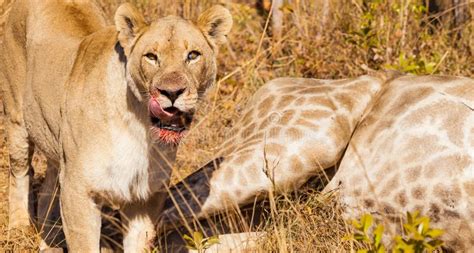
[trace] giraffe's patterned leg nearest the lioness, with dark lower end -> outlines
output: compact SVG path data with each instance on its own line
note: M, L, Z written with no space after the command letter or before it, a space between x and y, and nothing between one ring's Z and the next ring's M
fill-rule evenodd
M332 167L382 86L383 81L368 76L269 82L221 145L220 163L211 163L218 168L207 164L171 189L163 224L245 205L270 190L297 189Z

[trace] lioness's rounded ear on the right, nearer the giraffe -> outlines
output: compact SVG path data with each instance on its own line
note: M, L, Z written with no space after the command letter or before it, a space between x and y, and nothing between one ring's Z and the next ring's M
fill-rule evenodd
M212 46L219 46L226 42L226 36L232 28L232 15L220 6L215 5L204 11L198 18L197 25L209 39Z

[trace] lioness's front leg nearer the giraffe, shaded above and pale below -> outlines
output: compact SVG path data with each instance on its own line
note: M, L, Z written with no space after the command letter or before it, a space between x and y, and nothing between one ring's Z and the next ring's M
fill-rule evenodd
M166 193L155 193L146 202L134 202L122 208L124 252L145 252L152 249L156 238L155 223L165 197Z

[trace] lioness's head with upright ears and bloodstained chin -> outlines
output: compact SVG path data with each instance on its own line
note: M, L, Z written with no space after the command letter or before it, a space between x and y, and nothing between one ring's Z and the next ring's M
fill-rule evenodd
M226 41L232 16L216 5L195 23L176 16L148 23L135 7L123 4L115 26L129 86L148 104L152 139L177 143L198 99L215 82L218 46Z

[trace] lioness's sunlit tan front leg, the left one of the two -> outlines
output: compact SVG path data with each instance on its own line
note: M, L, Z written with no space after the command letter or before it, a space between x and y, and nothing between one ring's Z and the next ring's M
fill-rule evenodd
M70 252L100 252L100 207L78 180L61 182L61 219Z

